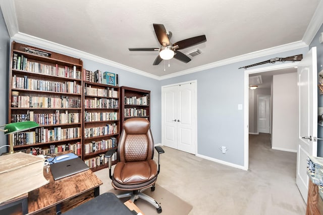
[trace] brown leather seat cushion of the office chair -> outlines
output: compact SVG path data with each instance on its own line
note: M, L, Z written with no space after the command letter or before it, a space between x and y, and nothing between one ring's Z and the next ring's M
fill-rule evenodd
M137 162L118 162L114 170L114 179L120 184L140 184L157 175L157 165L154 160Z

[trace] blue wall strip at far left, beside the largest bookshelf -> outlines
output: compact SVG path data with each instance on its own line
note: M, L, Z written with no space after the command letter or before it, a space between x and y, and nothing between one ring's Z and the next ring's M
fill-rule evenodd
M0 10L0 125L8 123L8 78L9 78L9 53L10 37L7 31L5 20ZM7 145L7 136L0 132L0 147ZM7 152L8 147L0 150L0 154Z

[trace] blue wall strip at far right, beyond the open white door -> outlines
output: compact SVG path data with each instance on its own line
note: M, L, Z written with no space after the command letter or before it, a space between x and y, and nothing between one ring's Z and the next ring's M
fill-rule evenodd
M309 44L309 48L316 46L317 51L317 73L319 73L320 70L323 69L323 43L319 43L318 37L319 34L323 32L323 25L318 30L317 34L315 35L312 42ZM323 107L323 95L319 95L317 93L317 105L318 107ZM323 138L323 127L318 126L317 127L317 136L320 138ZM323 140L318 140L317 142L317 156L323 157Z

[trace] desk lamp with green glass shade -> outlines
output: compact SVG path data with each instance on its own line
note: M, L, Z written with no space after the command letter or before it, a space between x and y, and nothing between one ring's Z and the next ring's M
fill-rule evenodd
M0 127L4 127L4 129L0 129L0 130L4 131L5 134L11 134L11 133L29 130L31 128L35 128L38 126L39 126L39 124L37 124L36 122L33 122L33 121L13 122L13 123L9 123L9 124L0 126ZM10 141L9 154L13 154L13 153L14 153L14 144L13 144L13 141Z

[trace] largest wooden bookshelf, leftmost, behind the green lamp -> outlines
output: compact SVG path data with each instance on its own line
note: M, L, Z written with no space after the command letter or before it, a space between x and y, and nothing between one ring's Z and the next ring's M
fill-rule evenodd
M10 63L8 121L40 125L10 134L14 150L82 158L82 60L13 41Z

